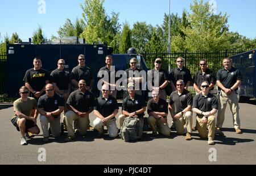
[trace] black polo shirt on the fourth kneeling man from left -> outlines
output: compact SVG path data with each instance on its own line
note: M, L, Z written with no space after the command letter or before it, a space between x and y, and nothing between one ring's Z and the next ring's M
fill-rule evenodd
M94 110L97 110L100 112L104 118L108 117L111 115L114 110L118 110L118 104L117 104L117 99L109 96L109 98L106 100L104 97L100 96L95 100L94 104Z

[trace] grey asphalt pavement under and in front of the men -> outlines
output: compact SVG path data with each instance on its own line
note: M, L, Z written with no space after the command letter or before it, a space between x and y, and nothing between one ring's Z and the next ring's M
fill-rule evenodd
M154 137L151 131L147 131L142 140L131 143L111 139L108 134L97 139L97 132L88 131L85 137L77 137L71 143L64 143L67 132L58 139L50 137L49 143L43 142L41 133L28 140L28 145L22 146L20 133L10 121L13 107L0 105L0 109L0 164L256 164L255 102L240 103L242 134L234 132L227 107L225 136L216 136L215 145L201 140L197 131L192 133L191 141L185 141L185 136L176 135L176 131L172 131L170 137ZM90 114L90 124L95 118ZM168 124L171 125L170 115ZM38 125L40 127L39 118ZM46 161L42 156L44 152Z

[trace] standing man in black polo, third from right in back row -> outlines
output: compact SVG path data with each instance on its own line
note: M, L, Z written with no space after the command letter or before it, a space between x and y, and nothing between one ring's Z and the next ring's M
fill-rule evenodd
M185 89L191 84L192 78L189 69L185 68L184 65L184 58L178 57L176 60L177 67L171 70L170 79L171 85L174 90L176 90L176 82L179 79L182 79L185 83Z

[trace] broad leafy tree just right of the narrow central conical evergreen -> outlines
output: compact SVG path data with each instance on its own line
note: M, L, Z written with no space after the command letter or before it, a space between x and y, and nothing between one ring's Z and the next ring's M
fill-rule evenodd
M146 22L136 22L131 30L131 43L138 53L145 51L146 44L150 41L152 35L152 26Z

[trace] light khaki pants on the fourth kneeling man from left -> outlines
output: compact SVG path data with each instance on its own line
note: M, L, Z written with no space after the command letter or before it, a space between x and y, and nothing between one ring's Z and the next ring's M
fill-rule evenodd
M116 120L115 118L110 119L109 123L106 124L106 127L109 132L109 137L117 137L118 135L118 128L117 128L117 124L115 124L115 120ZM94 125L94 128L97 129L99 133L103 133L105 124L101 121L100 118L96 118L95 120L93 120L93 125Z

